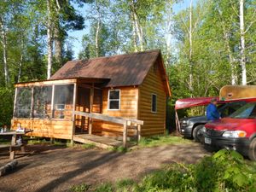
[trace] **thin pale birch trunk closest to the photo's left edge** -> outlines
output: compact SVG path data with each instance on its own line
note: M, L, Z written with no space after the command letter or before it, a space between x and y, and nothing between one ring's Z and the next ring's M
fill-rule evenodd
M5 26L3 24L3 16L0 16L0 26L1 26L1 36L2 36L2 44L3 44L3 71L4 71L4 79L5 85L9 85L9 67L7 63L7 35L5 31Z

